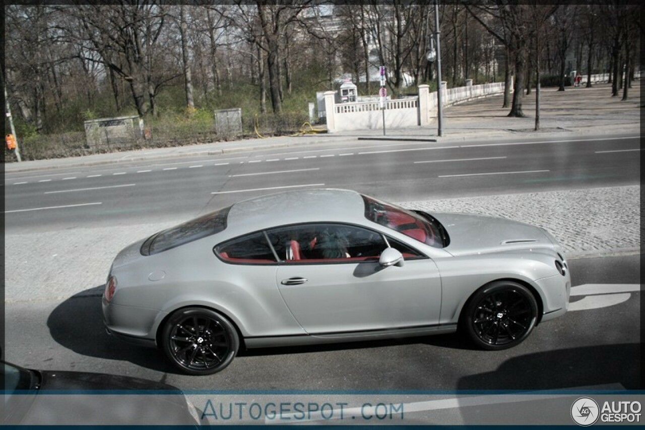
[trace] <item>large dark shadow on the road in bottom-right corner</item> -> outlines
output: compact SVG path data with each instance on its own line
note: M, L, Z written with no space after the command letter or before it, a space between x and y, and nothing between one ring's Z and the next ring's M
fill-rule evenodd
M583 393L599 400L600 393L642 389L640 348L619 343L524 354L493 371L464 376L457 381L460 424L573 423L571 404ZM490 396L516 390L533 396L516 395L511 402Z

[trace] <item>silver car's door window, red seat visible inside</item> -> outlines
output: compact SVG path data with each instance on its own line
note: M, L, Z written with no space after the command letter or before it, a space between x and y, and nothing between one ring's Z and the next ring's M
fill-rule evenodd
M268 231L279 258L319 263L377 260L387 247L380 233L343 224L303 224Z

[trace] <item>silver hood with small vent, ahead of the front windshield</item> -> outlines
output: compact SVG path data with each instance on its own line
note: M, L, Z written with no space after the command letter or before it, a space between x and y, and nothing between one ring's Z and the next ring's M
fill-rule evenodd
M450 243L445 251L454 256L554 245L545 230L506 218L446 213L432 215L448 232Z

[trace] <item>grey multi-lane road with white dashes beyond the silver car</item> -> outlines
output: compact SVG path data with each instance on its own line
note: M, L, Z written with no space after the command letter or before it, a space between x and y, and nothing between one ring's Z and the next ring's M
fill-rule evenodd
M638 155L638 156L637 156ZM350 188L390 201L636 185L640 139L477 143L348 140L301 149L5 176L5 231L192 218L298 187Z

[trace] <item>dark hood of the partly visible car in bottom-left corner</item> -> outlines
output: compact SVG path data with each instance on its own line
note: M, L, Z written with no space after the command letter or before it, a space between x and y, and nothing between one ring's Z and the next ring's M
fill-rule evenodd
M30 404L19 419L30 425L197 425L184 393L172 385L100 373L39 371L37 391L18 394ZM15 424L15 423L14 423Z

